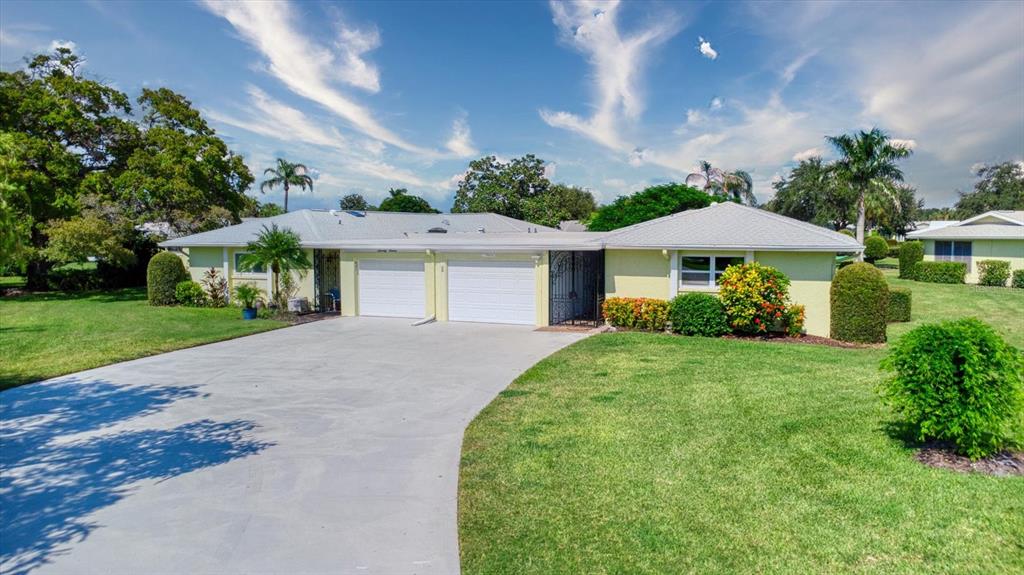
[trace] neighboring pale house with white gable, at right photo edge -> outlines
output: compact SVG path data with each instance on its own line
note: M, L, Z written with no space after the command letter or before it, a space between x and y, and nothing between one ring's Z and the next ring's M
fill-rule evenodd
M992 211L944 227L906 234L920 239L925 260L967 264L967 281L978 282L979 260L1006 260L1012 270L1024 268L1024 211Z

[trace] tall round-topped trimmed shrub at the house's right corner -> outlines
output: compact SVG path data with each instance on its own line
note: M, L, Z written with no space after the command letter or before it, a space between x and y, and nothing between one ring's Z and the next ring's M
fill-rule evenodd
M831 337L844 342L886 341L889 285L877 267L856 263L836 272L831 285Z

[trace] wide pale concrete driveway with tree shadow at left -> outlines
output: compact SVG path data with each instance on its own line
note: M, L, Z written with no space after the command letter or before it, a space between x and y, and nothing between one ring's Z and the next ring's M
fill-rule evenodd
M0 572L457 573L463 430L581 338L332 319L0 393Z

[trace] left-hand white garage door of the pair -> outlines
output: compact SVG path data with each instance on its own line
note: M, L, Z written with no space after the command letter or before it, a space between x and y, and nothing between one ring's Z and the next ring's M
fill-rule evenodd
M359 315L423 317L423 262L359 260Z

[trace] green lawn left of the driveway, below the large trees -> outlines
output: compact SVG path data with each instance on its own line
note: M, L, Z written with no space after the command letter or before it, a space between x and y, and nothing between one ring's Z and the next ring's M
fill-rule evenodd
M233 307L153 307L144 290L2 298L0 389L284 325Z

